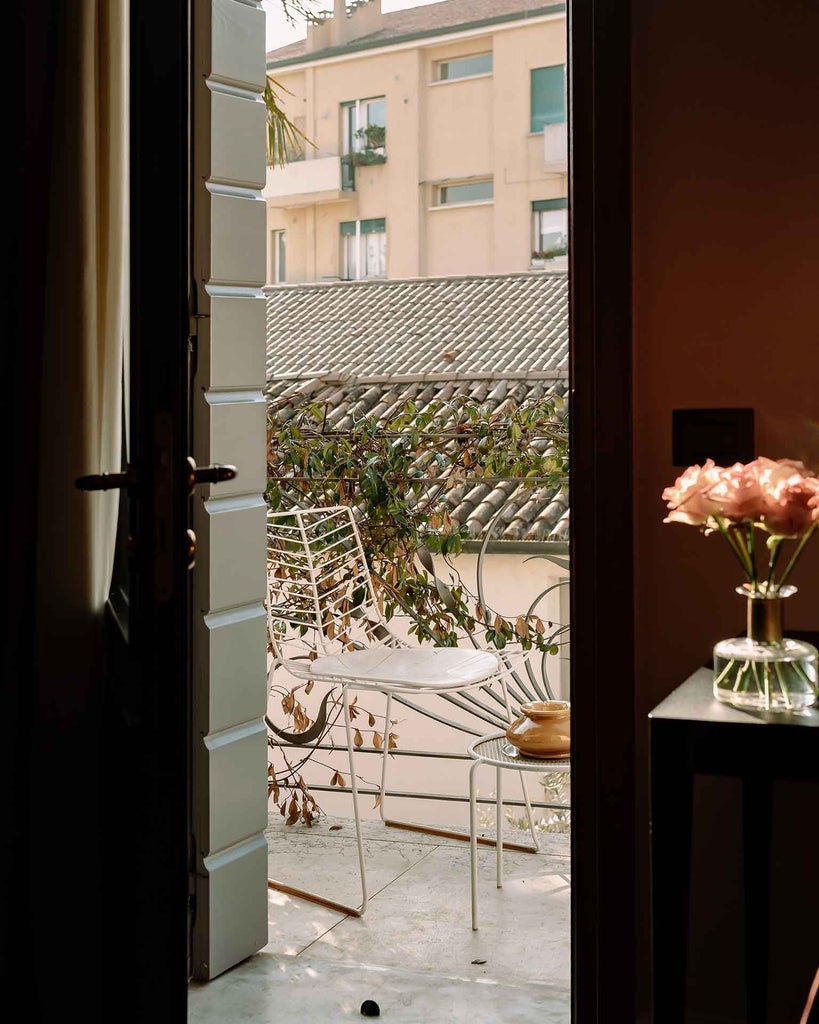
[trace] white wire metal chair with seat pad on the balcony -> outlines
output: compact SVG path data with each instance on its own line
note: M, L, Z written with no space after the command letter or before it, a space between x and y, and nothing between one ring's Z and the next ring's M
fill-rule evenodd
M379 610L378 596L350 508L330 506L273 513L268 516L267 536L267 613L272 670L281 667L296 679L321 681L341 688L361 899L357 906L349 906L273 879L268 880L268 886L361 916L368 902L367 870L349 690L377 691L387 698L380 786L384 818L387 734L393 695L454 693L497 684L509 714L504 680L506 669L501 658L490 651L411 646L390 631ZM305 654L305 640L309 654ZM528 798L526 806L531 823ZM434 835L457 835L384 820L385 824ZM533 824L531 831L534 836ZM457 838L469 840L469 836L457 835Z

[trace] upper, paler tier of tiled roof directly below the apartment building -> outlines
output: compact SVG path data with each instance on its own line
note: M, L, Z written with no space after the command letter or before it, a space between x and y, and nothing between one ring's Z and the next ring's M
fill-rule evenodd
M267 374L566 376L565 272L277 285Z

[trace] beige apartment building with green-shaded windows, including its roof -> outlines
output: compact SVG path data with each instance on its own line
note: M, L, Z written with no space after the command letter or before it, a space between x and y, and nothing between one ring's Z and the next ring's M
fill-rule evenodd
M267 281L563 269L565 4L333 12L267 54L309 140L269 167Z

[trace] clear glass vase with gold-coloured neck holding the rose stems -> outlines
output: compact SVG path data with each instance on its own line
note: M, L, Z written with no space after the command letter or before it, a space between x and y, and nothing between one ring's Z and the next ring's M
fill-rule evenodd
M819 653L812 644L788 639L782 632L783 605L796 588L770 594L748 587L736 590L747 602L747 635L715 646L715 697L757 711L789 712L815 705Z

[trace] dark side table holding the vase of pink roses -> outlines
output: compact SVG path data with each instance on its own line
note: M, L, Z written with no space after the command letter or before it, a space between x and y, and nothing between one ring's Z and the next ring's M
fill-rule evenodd
M803 633L816 645L817 634ZM740 711L716 700L700 669L649 714L652 1024L683 1024L694 776L742 783L747 1024L767 1021L771 803L777 780L819 780L819 709ZM761 880L765 880L761 882Z

